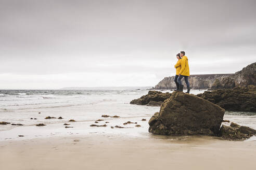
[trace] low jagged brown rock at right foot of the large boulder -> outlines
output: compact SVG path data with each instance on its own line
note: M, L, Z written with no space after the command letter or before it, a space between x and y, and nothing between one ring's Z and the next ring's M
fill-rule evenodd
M231 123L230 126L222 125L220 136L228 140L245 140L256 135L256 130L247 126L240 126L236 123Z

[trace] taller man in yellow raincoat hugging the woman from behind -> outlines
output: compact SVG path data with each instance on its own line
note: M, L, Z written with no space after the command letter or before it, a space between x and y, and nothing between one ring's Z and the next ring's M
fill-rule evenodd
M185 79L185 82L187 84L187 92L186 93L189 93L190 92L190 87L189 87L189 82L188 82L188 77L190 76L189 75L189 66L188 66L188 59L187 59L187 56L185 56L185 52L184 51L181 51L181 57L182 57L182 60L181 60L181 70L179 72L179 76L178 76L178 91L183 91L183 85L182 85L182 82L181 82L181 79L184 77Z

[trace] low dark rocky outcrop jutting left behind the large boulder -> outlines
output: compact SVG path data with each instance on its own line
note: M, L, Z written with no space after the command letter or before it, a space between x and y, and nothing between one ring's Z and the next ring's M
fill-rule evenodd
M130 104L136 105L148 105L148 106L161 106L164 100L169 98L171 93L162 93L159 91L148 91L147 95L143 95L142 97L135 99L130 102Z

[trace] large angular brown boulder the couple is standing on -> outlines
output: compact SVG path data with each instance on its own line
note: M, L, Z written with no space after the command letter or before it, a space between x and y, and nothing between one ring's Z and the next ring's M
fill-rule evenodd
M149 120L160 135L218 135L225 110L193 94L175 91Z

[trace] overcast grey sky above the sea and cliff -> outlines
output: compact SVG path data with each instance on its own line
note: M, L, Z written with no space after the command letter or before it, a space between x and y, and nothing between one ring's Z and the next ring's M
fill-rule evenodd
M256 1L0 0L0 89L155 86L255 62Z

